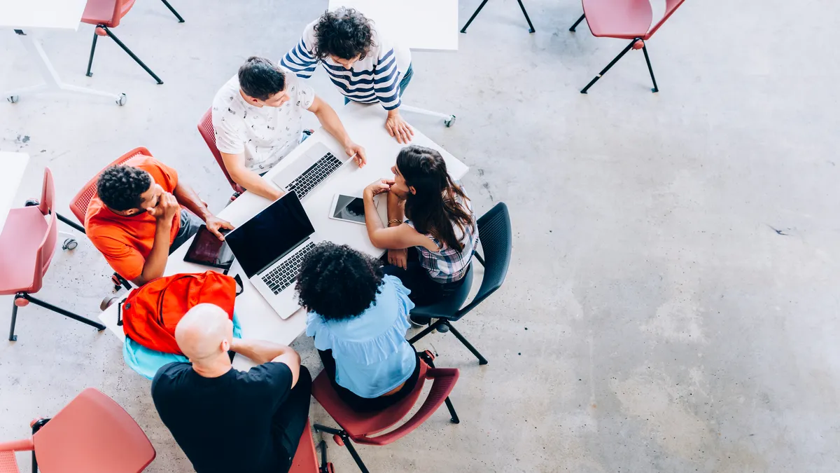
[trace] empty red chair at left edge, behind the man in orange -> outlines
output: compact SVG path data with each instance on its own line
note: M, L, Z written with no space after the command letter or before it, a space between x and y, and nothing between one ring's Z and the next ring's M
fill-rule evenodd
M3 268L0 271L0 295L14 295L12 323L8 330L10 342L18 339L14 334L18 307L27 306L29 302L96 327L100 332L105 330L101 323L48 304L32 295L43 287L44 275L55 253L58 225L53 211L54 199L52 173L49 167L45 167L39 204L10 210L3 232L0 233L0 268Z

